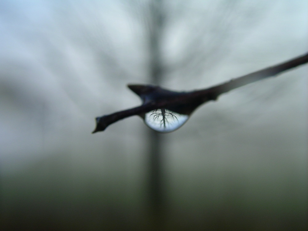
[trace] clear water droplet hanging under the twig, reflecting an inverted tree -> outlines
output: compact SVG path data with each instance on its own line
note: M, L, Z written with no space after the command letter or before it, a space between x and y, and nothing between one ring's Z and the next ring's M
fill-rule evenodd
M188 115L163 108L147 112L144 116L144 122L157 132L172 132L180 128L188 118Z

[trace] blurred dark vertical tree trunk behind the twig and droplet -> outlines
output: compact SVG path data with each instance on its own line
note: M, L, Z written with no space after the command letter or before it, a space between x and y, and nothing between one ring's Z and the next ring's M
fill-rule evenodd
M150 82L160 85L163 78L161 36L163 30L162 0L152 0L149 23ZM162 135L148 130L149 142L149 202L153 215L159 219L164 207Z

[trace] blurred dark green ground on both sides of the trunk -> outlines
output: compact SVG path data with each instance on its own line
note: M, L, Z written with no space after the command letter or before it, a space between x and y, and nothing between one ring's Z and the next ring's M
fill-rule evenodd
M1 230L305 230L306 178L289 166L166 172L166 205L155 220L145 175L129 182L72 166L58 153L2 176ZM274 161L272 162L274 163ZM189 163L188 163L189 164ZM279 165L279 164L278 164ZM121 165L120 165L121 166ZM205 175L202 175L205 174ZM112 173L111 173L112 175ZM132 183L132 184L131 184ZM137 185L137 187L136 187ZM158 222L158 227L157 224Z

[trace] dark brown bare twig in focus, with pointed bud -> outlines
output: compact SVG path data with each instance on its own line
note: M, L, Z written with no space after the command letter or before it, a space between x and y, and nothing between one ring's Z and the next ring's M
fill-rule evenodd
M143 100L143 104L124 111L118 111L110 115L96 118L96 128L92 133L104 131L110 124L132 115L143 116L144 113L159 108L166 108L180 114L190 115L202 103L216 100L222 93L231 91L237 87L256 82L283 71L297 67L308 62L308 54L294 58L287 62L268 67L260 71L250 73L232 79L229 82L198 91L176 92L151 85L128 85Z

